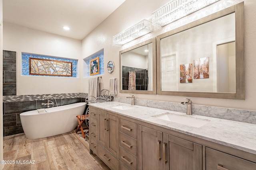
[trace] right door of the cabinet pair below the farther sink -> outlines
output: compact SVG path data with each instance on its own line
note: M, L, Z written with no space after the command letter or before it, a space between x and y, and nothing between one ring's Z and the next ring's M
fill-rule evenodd
M107 149L117 158L119 157L119 119L116 116L107 115Z

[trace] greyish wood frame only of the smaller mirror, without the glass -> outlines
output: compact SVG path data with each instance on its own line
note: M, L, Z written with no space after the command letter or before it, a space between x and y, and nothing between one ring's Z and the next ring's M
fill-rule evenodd
M122 90L122 53L126 53L133 49L142 47L144 45L152 43L152 90ZM156 38L149 39L122 51L119 51L119 88L120 93L131 93L131 94L156 94Z

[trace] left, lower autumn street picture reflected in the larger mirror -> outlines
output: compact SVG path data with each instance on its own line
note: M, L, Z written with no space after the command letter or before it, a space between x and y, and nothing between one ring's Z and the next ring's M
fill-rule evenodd
M180 65L180 83L192 83L193 64Z

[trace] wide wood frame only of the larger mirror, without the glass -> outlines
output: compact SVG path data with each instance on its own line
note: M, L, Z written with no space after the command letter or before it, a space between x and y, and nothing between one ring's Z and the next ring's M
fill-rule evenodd
M184 30L196 27L203 23L221 18L228 14L235 13L235 49L236 49L236 92L179 92L179 91L162 91L161 90L161 39L182 32ZM244 2L201 18L199 20L168 31L156 38L157 50L157 94L172 96L204 97L204 98L224 98L224 99L245 99L245 81L244 81Z

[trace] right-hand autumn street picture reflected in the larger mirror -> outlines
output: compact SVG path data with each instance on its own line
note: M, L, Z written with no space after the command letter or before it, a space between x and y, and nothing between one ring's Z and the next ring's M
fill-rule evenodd
M209 78L209 57L194 60L194 79Z

